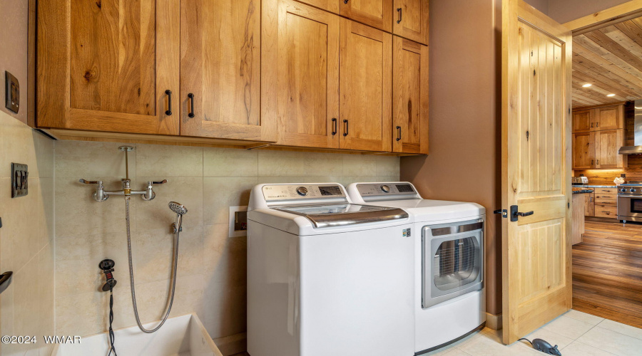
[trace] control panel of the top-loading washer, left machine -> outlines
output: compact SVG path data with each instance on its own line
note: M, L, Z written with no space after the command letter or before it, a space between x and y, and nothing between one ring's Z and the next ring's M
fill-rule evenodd
M265 201L345 198L345 192L337 184L270 184L263 186L263 197Z

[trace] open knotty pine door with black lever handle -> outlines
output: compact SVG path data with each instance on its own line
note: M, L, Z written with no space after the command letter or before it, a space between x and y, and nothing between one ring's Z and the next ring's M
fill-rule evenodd
M571 308L571 31L502 2L504 343ZM511 206L533 213L511 217Z

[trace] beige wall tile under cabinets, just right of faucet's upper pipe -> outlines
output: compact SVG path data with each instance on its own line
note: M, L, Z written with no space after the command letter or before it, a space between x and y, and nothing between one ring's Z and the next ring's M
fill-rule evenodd
M138 145L134 152L138 177L203 177L202 147Z

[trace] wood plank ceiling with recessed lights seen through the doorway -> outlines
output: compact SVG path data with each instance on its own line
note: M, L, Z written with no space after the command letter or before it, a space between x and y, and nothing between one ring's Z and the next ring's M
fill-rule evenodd
M573 38L572 97L573 108L642 98L642 18Z

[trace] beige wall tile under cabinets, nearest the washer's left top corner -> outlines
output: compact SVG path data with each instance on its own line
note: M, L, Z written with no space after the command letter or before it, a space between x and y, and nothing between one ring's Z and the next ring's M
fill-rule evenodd
M204 177L256 177L258 152L233 148L203 148Z

